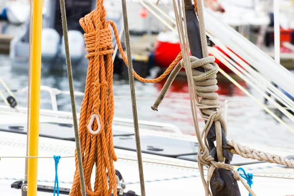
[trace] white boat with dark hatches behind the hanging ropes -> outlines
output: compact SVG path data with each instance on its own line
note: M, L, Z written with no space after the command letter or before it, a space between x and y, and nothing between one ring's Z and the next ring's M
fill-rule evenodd
M11 109L0 106L0 190L3 195L21 195L21 189L11 184L24 179L26 146L26 108ZM41 110L38 161L38 196L52 195L55 179L53 155L61 156L58 164L59 189L65 193L71 189L74 164L74 133L72 113ZM197 140L193 136L178 133L169 124L140 123L143 167L147 195L204 195L198 165L196 163ZM158 131L169 130L170 133ZM156 130L156 131L154 131ZM132 120L115 119L113 123L114 146L118 161L114 166L123 176L124 192L134 191L140 195L138 164ZM293 155L293 149L270 146L251 146L281 156ZM7 158L5 158L7 157ZM21 157L21 158L17 158ZM62 158L70 157L70 158ZM232 165L253 173L252 189L256 195L285 196L293 194L294 178L291 168L234 155ZM263 177L258 177L263 176ZM268 176L268 177L266 177ZM277 178L276 178L277 177ZM281 179L279 179L279 177ZM239 183L241 194L248 193ZM49 188L51 187L51 188ZM64 189L63 189L64 188ZM44 191L51 191L47 193Z

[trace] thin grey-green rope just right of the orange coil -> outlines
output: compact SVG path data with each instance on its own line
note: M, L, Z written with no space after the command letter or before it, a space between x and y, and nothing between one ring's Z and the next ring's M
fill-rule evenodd
M138 114L137 114L137 106L136 106L135 81L134 81L134 73L133 73L132 53L131 53L131 46L130 46L130 37L129 37L130 35L129 35L129 30L128 30L127 10L126 10L125 0L122 0L122 7L123 7L124 38L125 38L126 55L127 55L127 63L128 63L128 77L129 77L131 98L132 98L132 109L133 109L138 167L139 167L139 175L140 175L141 196L145 196L146 194L145 194L145 184L144 184L144 173L143 173L143 164L142 164Z

